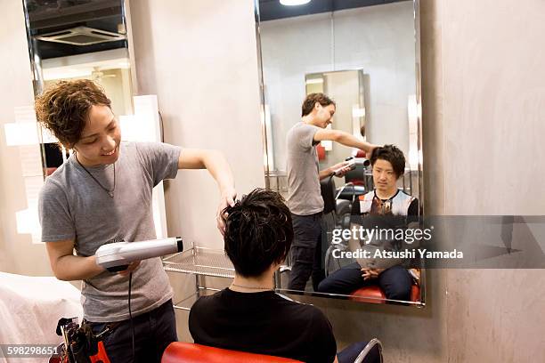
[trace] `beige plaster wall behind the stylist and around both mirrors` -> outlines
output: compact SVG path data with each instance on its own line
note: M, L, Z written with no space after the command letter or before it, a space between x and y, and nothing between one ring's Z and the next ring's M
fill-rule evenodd
M263 185L251 0L134 3L139 86L159 94L167 141L221 149L240 191ZM0 57L8 70L0 89L4 123L12 121L13 106L32 102L32 89L20 3L0 4L0 41L9 54ZM423 0L421 17L427 212L542 214L545 3ZM20 160L1 133L0 270L45 271L43 246L15 232L14 212L26 207ZM181 173L167 190L169 233L217 244L216 198L205 173ZM545 361L542 270L428 276L421 310L313 303L329 316L339 343L378 336L386 361ZM188 339L186 332L181 337Z

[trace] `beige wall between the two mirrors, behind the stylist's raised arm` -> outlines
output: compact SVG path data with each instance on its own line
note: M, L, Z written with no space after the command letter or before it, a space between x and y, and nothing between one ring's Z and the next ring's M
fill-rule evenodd
M138 92L158 94L165 141L221 150L240 193L264 186L252 4L131 2ZM168 234L223 248L218 201L207 172L178 173L167 185Z

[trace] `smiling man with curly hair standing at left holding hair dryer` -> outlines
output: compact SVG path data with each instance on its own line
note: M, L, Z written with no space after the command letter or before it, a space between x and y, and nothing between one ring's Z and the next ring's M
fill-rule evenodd
M89 80L60 82L36 101L38 121L73 150L40 192L42 241L55 277L83 280L84 319L94 333L114 327L104 340L112 363L133 360L127 308L132 273L135 360L159 362L167 345L177 340L173 290L160 259L134 262L114 274L96 264L94 253L108 242L156 238L152 189L164 179L175 178L178 169L206 168L216 179L222 232L219 211L233 206L236 192L231 169L217 151L121 142L110 103Z

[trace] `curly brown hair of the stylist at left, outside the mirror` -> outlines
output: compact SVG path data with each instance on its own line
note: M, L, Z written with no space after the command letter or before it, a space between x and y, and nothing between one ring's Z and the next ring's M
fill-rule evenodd
M79 141L93 106L111 101L99 85L88 79L61 81L42 93L35 102L37 120L66 148Z

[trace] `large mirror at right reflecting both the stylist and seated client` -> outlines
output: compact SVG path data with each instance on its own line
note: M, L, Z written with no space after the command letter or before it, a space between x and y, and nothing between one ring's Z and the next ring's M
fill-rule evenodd
M403 251L406 240L336 234L411 230L422 215L418 4L388 3L256 4L265 177L287 198L296 235L281 290L425 303L424 270L411 256L338 257Z

